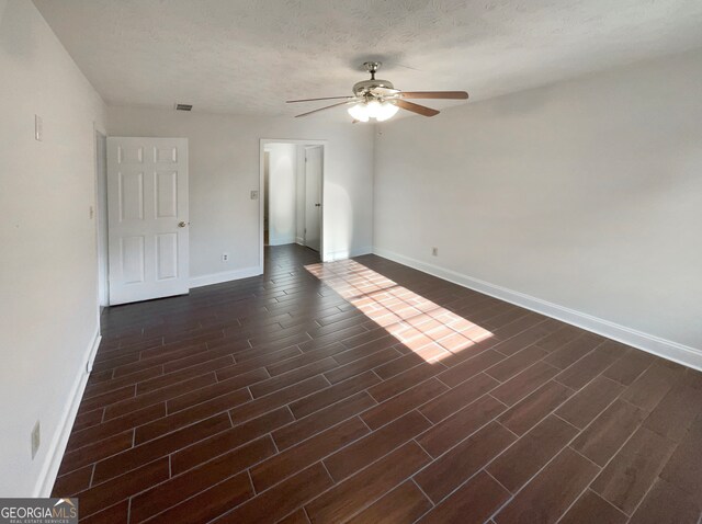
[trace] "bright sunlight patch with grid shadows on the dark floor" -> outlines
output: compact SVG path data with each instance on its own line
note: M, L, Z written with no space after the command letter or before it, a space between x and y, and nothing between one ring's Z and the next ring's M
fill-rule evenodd
M353 260L305 269L427 362L441 361L492 337Z

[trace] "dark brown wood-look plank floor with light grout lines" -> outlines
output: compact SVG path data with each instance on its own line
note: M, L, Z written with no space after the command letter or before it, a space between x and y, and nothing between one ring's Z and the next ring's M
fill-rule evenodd
M114 307L84 522L697 523L702 374L367 255Z

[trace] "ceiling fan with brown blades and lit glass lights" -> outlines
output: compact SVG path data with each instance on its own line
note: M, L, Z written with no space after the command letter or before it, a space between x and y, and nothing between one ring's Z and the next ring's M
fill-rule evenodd
M371 79L356 82L353 86L352 96L324 96L320 99L288 100L288 104L297 102L315 102L319 100L342 100L342 102L327 105L318 110L308 111L307 113L296 115L295 117L312 115L320 111L342 105L350 106L348 111L354 123L369 122L370 118L383 122L392 118L400 109L411 111L412 113L417 113L422 116L434 116L439 114L439 111L427 107L426 105L408 102L408 100L465 100L468 98L468 93L465 91L400 91L399 89L395 89L393 82L375 78L375 73L381 67L380 61L366 61L363 66L365 66L365 69L371 73Z

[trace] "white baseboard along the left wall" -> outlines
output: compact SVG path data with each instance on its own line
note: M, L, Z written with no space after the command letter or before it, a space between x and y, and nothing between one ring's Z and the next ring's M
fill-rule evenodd
M54 482L58 475L58 468L61 465L64 452L68 444L68 437L73 429L76 413L78 412L78 407L83 398L86 384L90 376L88 368L92 367L92 361L95 357L101 340L102 337L100 335L100 329L98 329L92 342L83 354L83 358L78 369L78 375L76 376L73 387L71 388L70 396L68 397L68 402L66 402L66 406L61 411L58 428L52 437L52 442L49 444L48 452L46 453L46 458L42 466L39 478L34 487L34 493L32 497L50 497L52 494L52 489L54 488Z

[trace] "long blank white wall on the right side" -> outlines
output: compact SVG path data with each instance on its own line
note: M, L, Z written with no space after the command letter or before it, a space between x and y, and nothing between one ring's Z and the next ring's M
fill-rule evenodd
M700 93L697 50L380 125L376 250L702 366Z

